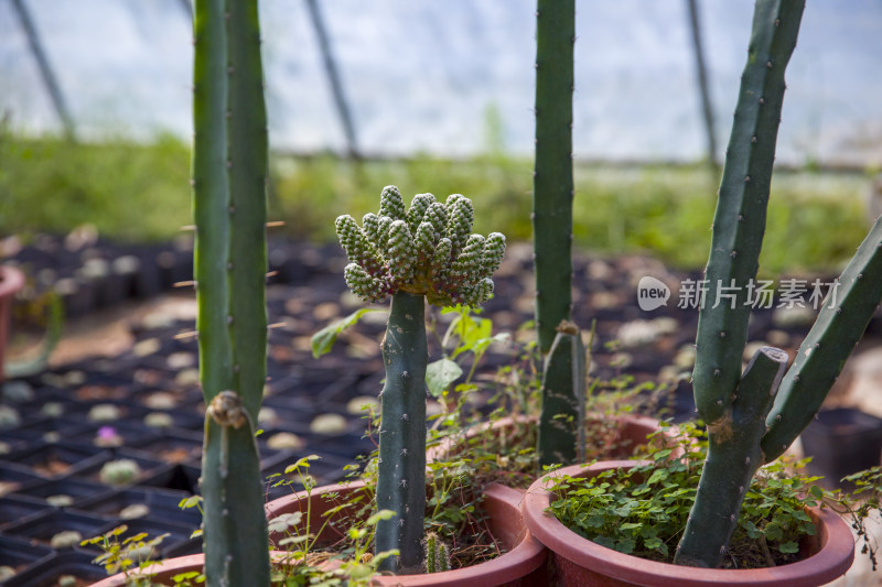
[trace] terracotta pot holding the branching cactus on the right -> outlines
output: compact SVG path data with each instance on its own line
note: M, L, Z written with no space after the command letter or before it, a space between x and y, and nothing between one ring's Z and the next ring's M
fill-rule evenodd
M549 478L561 475L591 477L603 470L633 467L635 461L595 463L590 467L566 467L537 480L527 491L521 509L530 532L551 551L559 583L563 587L626 585L709 587L750 585L753 587L811 587L843 575L854 558L854 541L848 525L829 510L809 510L818 533L804 541L809 556L797 563L756 569L710 569L657 563L622 554L583 539L546 512L551 493L545 489Z

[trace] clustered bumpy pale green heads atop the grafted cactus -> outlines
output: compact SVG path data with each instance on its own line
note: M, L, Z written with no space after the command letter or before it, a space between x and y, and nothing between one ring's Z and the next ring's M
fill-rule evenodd
M386 186L379 213L365 215L361 227L349 215L336 220L352 261L346 284L366 302L405 291L439 306L478 305L493 294L491 275L505 254L505 237L472 235L473 221L472 200L460 194L444 204L418 194L406 210L398 188Z

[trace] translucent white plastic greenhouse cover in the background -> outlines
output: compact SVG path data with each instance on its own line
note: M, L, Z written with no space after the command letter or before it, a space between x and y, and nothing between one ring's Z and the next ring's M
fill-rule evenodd
M78 135L190 135L192 45L182 0L22 1ZM698 6L722 151L753 2ZM361 152L530 153L535 0L321 0L319 7ZM13 0L0 0L0 111L15 130L58 132L13 8ZM306 1L261 0L260 10L272 145L344 151ZM577 11L577 157L701 157L686 0L580 0ZM882 3L809 0L787 83L779 161L882 163ZM494 118L496 140L487 132Z

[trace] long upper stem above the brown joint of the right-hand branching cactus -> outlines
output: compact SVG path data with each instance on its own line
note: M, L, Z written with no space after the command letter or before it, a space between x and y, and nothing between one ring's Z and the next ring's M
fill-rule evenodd
M729 139L699 314L692 374L699 416L727 413L747 341L747 284L756 276L772 185L784 69L796 46L805 0L759 0L747 64Z

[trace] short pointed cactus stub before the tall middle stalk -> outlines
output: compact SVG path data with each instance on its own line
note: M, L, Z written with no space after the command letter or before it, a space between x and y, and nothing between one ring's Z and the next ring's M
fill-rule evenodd
M576 463L583 452L585 347L579 328L562 322L545 361L539 416L539 465Z

